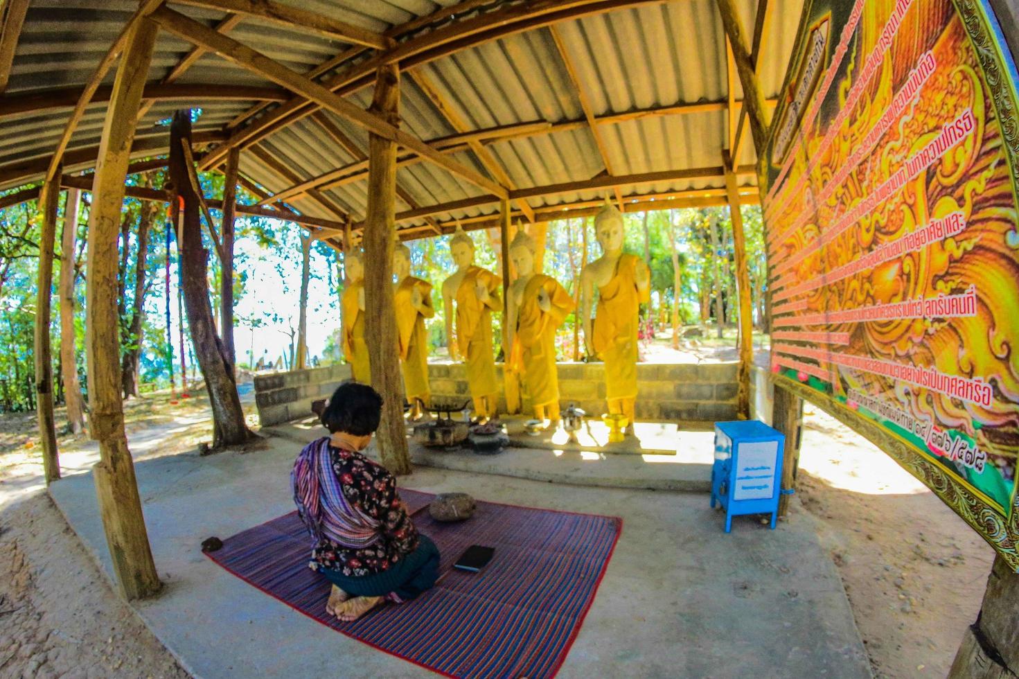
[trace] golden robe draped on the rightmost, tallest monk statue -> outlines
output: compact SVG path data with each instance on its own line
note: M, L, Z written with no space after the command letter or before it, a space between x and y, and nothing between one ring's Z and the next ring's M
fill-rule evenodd
M605 396L608 399L637 398L637 327L640 303L650 302L650 292L637 290L636 270L640 259L624 254L615 263L615 273L598 288L594 314L594 352L605 362Z

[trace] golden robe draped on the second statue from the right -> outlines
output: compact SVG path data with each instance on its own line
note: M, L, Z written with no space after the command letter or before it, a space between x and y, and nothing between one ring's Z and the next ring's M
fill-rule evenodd
M538 306L538 293L542 289L551 304L547 312ZM517 312L511 360L513 369L524 374L524 384L533 407L548 406L559 400L555 330L574 306L570 293L551 276L537 273L527 281L524 300Z

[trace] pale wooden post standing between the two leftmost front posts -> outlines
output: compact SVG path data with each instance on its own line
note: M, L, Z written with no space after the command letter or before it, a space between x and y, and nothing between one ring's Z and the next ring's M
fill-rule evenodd
M60 247L60 281L57 284L60 299L60 371L64 382L64 402L67 404L67 429L75 434L85 431L85 399L77 378L77 354L74 351L74 243L81 199L81 190L67 190Z

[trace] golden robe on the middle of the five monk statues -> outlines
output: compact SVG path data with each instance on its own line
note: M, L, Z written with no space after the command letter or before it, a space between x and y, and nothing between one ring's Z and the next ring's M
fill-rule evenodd
M497 296L502 279L480 266L472 266L457 289L457 346L467 359L467 383L471 397L480 399L499 390L492 355L492 312L478 299L477 283Z

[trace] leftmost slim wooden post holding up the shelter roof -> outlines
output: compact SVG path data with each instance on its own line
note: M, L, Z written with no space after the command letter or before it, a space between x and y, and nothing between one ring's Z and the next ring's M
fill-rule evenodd
M57 428L53 417L53 351L50 346L50 305L53 291L53 246L57 236L57 208L60 181L47 181L43 188L43 229L39 234L39 278L36 290L36 412L39 438L43 448L43 471L46 483L60 478L57 452Z

